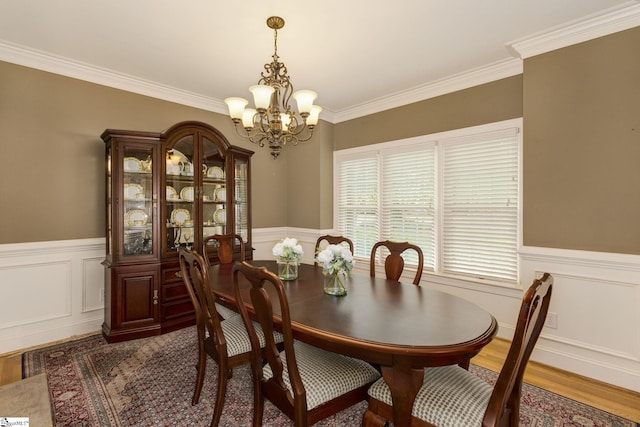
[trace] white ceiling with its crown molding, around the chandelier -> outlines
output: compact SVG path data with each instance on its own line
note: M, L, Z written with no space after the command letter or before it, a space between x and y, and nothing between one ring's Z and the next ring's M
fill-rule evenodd
M424 88L455 76L517 74L531 43L567 29L569 40L583 41L594 22L628 21L639 7L639 0L2 0L0 60L226 112L222 100L249 98L248 86L270 62L266 18L278 15L286 21L278 54L294 89L317 91L321 118L335 122L402 97L424 99Z

